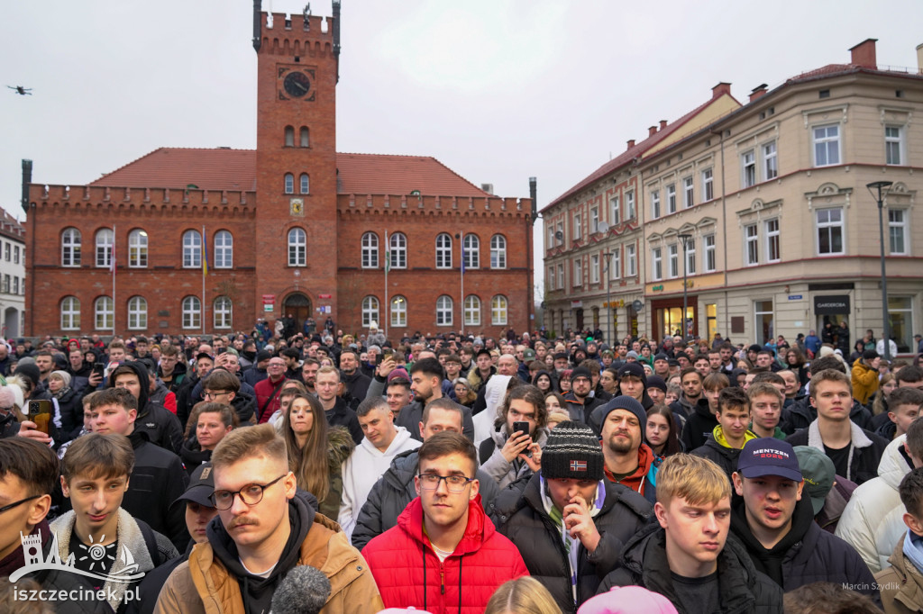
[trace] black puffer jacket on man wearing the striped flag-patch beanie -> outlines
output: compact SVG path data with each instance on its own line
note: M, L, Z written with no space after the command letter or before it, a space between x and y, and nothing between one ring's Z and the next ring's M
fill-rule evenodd
M529 573L551 592L562 612L576 612L584 601L596 594L605 574L621 557L625 544L653 511L651 503L634 490L607 479L603 483L605 502L593 518L600 534L599 545L593 554L579 546L577 603L574 603L570 587L567 550L542 502L540 476L529 478L521 494L515 485L503 490L494 506L497 532L516 545Z

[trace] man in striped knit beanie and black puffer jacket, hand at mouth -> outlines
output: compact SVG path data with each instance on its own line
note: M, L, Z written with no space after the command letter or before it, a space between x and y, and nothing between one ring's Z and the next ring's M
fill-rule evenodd
M497 499L497 530L516 545L533 578L563 612L595 595L625 542L644 525L651 503L605 479L593 430L565 421L548 436L542 472ZM567 573L562 573L567 570Z

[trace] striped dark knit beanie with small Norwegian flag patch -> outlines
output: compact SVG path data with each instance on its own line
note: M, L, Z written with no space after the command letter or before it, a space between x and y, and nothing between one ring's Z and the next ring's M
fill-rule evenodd
M603 448L593 429L582 422L561 422L548 435L542 449L542 477L603 478Z

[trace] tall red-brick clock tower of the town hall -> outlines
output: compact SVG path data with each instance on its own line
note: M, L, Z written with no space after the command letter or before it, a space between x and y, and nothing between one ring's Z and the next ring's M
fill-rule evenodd
M333 17L261 12L258 57L256 304L270 323L337 313L336 85L340 2ZM269 311L269 310L272 311Z

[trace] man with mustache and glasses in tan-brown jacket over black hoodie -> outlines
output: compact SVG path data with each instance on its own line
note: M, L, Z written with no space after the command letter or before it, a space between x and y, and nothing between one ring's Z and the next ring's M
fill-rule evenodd
M331 591L325 614L382 608L366 561L336 525L296 490L285 442L260 425L232 431L211 455L218 518L164 584L156 614L196 614L205 603L223 612L268 614L272 595L296 565L316 567Z

